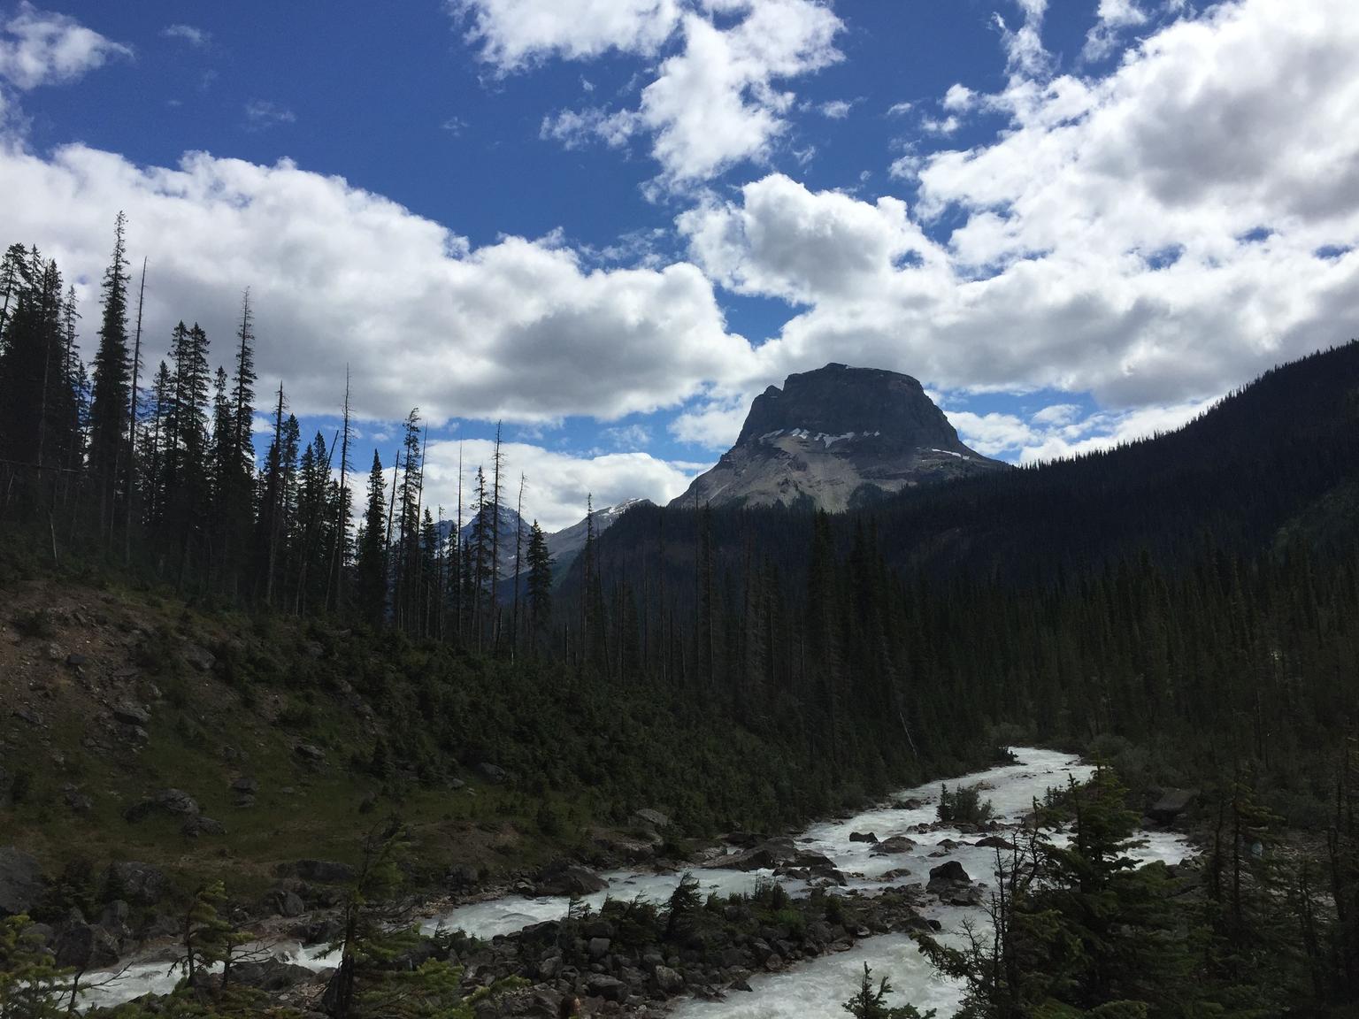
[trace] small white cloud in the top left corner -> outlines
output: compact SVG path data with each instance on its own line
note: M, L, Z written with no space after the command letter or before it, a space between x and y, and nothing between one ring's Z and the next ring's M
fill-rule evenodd
M23 91L73 82L110 57L130 56L128 46L27 0L0 31L0 77Z

